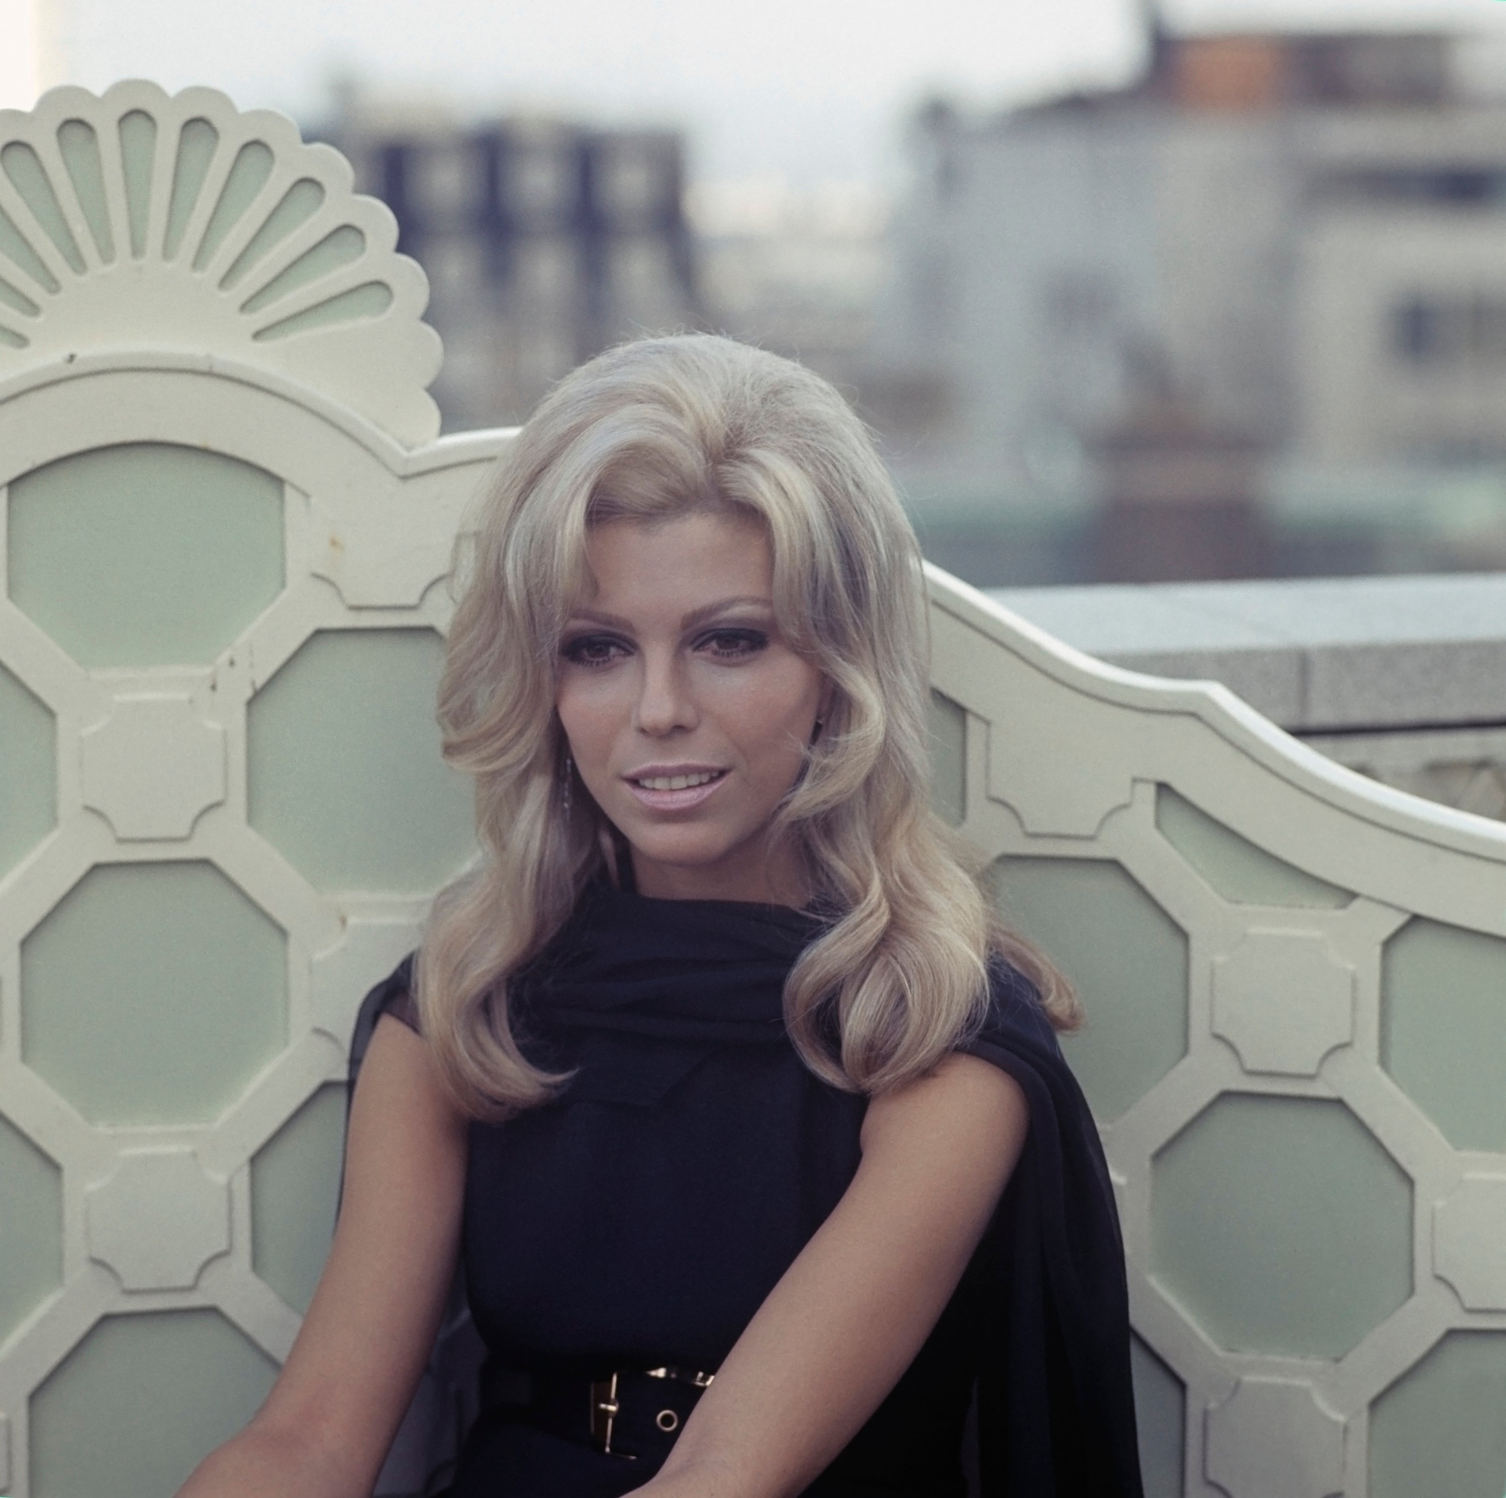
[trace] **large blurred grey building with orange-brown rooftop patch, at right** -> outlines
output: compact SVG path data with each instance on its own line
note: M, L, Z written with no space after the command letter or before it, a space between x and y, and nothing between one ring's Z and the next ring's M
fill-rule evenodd
M1300 510L1315 474L1506 462L1506 102L1480 48L1155 27L1131 87L925 110L873 349L920 503L1066 516L1074 559L1041 580L1361 571L1321 524L1294 556L1273 488Z

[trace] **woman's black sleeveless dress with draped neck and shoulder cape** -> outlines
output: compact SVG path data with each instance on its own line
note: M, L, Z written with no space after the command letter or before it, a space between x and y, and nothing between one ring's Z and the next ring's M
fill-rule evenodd
M562 1096L474 1123L462 1268L489 1353L453 1498L619 1498L628 1460L532 1420L517 1381L715 1372L857 1170L866 1099L818 1081L782 991L813 911L663 900L598 876L512 985ZM416 1024L411 958L363 1006ZM363 1036L357 1048L363 1048ZM1008 1070L1030 1131L994 1221L908 1372L809 1498L1139 1498L1128 1311L1096 1128L1029 982L997 962L964 1049ZM584 1397L584 1396L583 1396Z

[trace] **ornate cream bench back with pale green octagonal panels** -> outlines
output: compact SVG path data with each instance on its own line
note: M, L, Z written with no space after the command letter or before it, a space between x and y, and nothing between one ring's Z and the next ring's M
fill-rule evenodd
M470 854L432 690L508 434L437 438L422 274L349 182L208 90L0 113L11 1498L160 1498L255 1409L355 1004ZM1494 1498L1506 830L931 590L937 804L1087 1001L1149 1492Z

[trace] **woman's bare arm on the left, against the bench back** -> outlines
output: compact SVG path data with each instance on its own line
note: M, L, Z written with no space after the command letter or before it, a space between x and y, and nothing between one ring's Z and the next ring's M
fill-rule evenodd
M384 1016L351 1105L334 1244L267 1403L179 1498L366 1498L455 1274L465 1120L428 1046Z

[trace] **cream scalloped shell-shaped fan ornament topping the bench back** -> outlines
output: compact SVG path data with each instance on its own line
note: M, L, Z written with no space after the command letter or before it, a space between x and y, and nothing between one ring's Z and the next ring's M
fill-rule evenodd
M431 441L440 339L386 205L291 119L214 89L62 87L0 110L0 379L86 354L276 370Z

